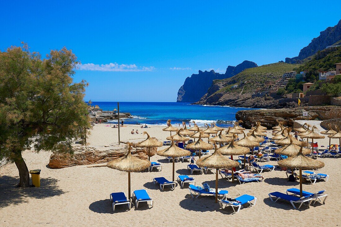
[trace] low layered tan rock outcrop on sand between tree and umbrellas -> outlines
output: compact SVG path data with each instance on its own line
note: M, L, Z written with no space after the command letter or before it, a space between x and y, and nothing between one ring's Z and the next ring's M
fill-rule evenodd
M150 149L150 156L156 154L156 148ZM115 148L100 151L93 147L75 147L73 155L53 153L50 156L48 166L50 168L65 168L76 165L90 165L106 163L123 157L127 154L127 148ZM148 149L133 148L133 156L140 159L148 159Z

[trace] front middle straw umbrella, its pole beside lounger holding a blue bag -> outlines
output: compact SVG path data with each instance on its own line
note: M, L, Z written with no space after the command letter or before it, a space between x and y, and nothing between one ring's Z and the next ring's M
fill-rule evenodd
M217 148L217 145L214 145L214 152L212 155L203 157L198 159L196 164L198 166L207 167L207 168L215 168L216 169L216 203L218 202L218 172L220 168L234 168L239 165L238 162L232 161L229 158L224 157Z

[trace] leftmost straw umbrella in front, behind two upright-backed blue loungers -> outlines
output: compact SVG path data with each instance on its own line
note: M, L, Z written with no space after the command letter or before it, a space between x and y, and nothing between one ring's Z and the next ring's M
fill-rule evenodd
M107 166L112 169L117 169L119 171L128 172L128 197L130 201L130 173L131 172L141 172L146 168L149 168L150 161L142 160L134 157L131 154L131 143L128 143L128 153L122 158L115 159L113 161L108 162Z

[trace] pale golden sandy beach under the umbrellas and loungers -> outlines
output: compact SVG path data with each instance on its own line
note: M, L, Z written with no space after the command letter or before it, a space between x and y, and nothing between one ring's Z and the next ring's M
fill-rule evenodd
M88 146L108 149L117 145L117 129L95 125L88 138ZM121 128L121 141L142 141L143 134L130 134L132 129L147 131L159 141L165 141L169 132L161 126L141 129L140 126L127 125ZM207 139L204 139L207 141ZM329 139L317 140L318 144L328 145ZM337 142L336 139L332 142ZM160 149L164 149L162 147ZM112 192L128 194L127 173L107 167L87 168L74 166L62 169L50 169L47 164L51 152L23 152L29 169L41 169L40 188L15 188L19 181L15 164L6 164L0 172L0 226L338 226L341 178L337 166L341 159L320 159L325 167L316 171L328 174L327 182L315 184L303 183L303 190L317 192L326 190L326 204L316 202L310 208L295 210L289 202L271 202L268 193L283 192L288 188L299 188L299 182L288 182L284 171L265 172L263 182L232 183L219 176L219 189L228 190L228 197L235 198L243 194L257 197L253 207L246 207L232 214L232 208L221 210L214 203L214 196L199 196L193 199L188 191L177 185L174 191L169 188L160 191L154 185L154 177L172 180L172 164L164 157L153 156L151 161L162 163L161 172L132 173L132 191L146 189L154 200L154 207L144 203L138 209L133 206L126 211L125 205L118 206L113 212L109 202ZM236 157L237 158L237 157ZM175 178L180 174L189 175L188 162L175 163ZM277 165L276 161L265 164ZM215 174L193 174L196 185L209 183L214 188Z

